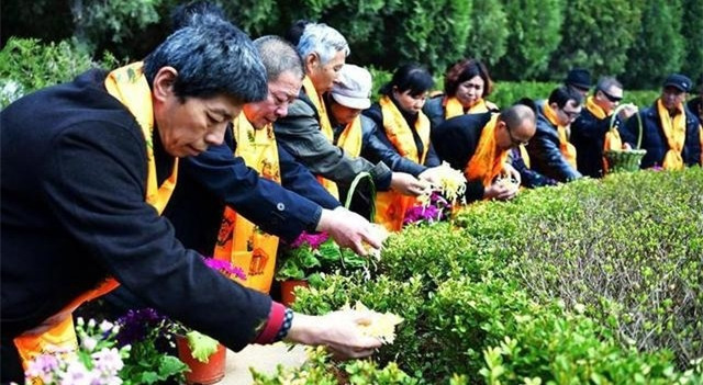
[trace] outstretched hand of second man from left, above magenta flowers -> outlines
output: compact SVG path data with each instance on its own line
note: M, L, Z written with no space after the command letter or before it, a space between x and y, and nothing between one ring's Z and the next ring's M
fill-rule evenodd
M330 234L341 247L348 247L359 256L367 256L367 242L375 249L380 249L388 233L366 220L362 216L342 206L335 210L323 210L315 228L317 231Z

